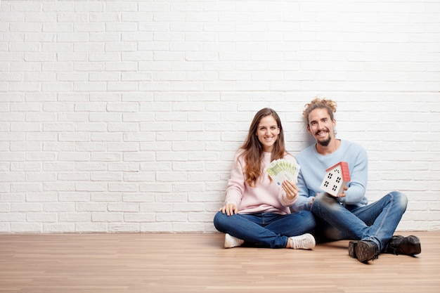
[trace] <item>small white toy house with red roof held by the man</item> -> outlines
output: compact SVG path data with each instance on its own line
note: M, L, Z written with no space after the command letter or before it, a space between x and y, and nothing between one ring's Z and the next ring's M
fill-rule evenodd
M344 186L350 181L349 164L339 162L325 171L327 174L321 183L321 190L333 196L344 193Z

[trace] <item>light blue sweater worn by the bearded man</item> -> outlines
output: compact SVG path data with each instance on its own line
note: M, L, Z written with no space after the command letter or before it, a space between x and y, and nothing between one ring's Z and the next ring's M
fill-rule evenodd
M349 165L350 182L345 191L345 197L338 197L344 205L363 206L368 204L365 197L368 177L368 156L361 145L350 141L341 140L339 148L330 155L321 155L316 151L316 145L305 148L296 157L301 169L299 170L298 183L299 197L292 205L294 211L310 210L311 197L321 193L321 182L326 174L325 170L339 162Z

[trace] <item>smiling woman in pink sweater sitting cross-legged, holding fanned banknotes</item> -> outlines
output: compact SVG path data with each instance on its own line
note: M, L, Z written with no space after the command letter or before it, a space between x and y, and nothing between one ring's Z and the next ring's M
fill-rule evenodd
M274 159L296 159L285 150L283 126L278 114L259 110L245 143L235 154L224 207L214 216L214 226L226 233L224 247L244 242L258 247L312 249L316 226L310 211L290 213L298 188L273 181L264 169Z

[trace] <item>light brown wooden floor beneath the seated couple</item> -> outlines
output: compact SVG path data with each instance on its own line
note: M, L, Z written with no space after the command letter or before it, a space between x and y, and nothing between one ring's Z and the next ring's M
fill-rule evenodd
M6 234L0 292L440 292L440 231L413 234L417 257L368 264L345 240L304 251L224 249L220 233Z

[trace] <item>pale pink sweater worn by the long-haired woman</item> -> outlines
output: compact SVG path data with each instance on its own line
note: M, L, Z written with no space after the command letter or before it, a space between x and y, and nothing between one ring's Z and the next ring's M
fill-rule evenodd
M239 150L235 154L231 178L226 187L225 204L235 204L239 214L254 214L261 212L272 212L276 214L290 214L289 206L297 201L287 200L285 191L271 181L266 171L258 178L254 188L245 182L245 160L238 159L242 153ZM284 159L297 163L295 157L288 154ZM271 153L264 152L263 169L271 162Z

